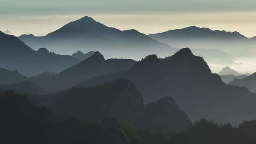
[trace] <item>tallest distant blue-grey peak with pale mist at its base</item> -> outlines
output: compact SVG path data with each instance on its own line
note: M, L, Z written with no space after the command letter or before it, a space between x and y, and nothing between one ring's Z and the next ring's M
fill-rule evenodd
M176 48L159 43L138 32L107 27L90 17L70 22L46 36L19 36L34 49L47 47L60 54L100 51L114 58L141 59L147 54L173 54Z

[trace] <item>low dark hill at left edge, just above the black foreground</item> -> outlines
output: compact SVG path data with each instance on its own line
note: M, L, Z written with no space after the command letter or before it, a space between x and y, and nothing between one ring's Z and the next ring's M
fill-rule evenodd
M46 90L32 81L22 81L10 85L0 85L0 90L13 90L22 94L48 94Z

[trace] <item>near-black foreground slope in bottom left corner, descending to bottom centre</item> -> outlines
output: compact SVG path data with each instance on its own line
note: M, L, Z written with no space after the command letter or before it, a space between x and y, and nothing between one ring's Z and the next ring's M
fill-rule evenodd
M136 131L114 118L82 122L31 104L13 91L0 91L0 113L3 144L139 144L132 135Z

